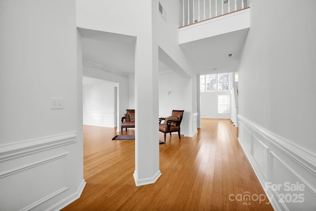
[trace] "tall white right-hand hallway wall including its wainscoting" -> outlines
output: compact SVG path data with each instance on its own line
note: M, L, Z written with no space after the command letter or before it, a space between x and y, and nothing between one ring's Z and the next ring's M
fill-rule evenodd
M306 187L266 188L270 197L304 194L304 203L281 204L274 197L276 210L316 206L315 8L314 0L252 1L239 62L239 141L260 181Z

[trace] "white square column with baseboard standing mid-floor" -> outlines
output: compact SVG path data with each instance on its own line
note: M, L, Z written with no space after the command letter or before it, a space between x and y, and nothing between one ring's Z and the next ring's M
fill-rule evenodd
M141 0L146 11L157 11L153 1ZM154 7L154 10L152 8ZM144 13L142 18L150 13ZM136 186L155 183L159 170L158 42L152 20L138 30L135 44L135 171Z

